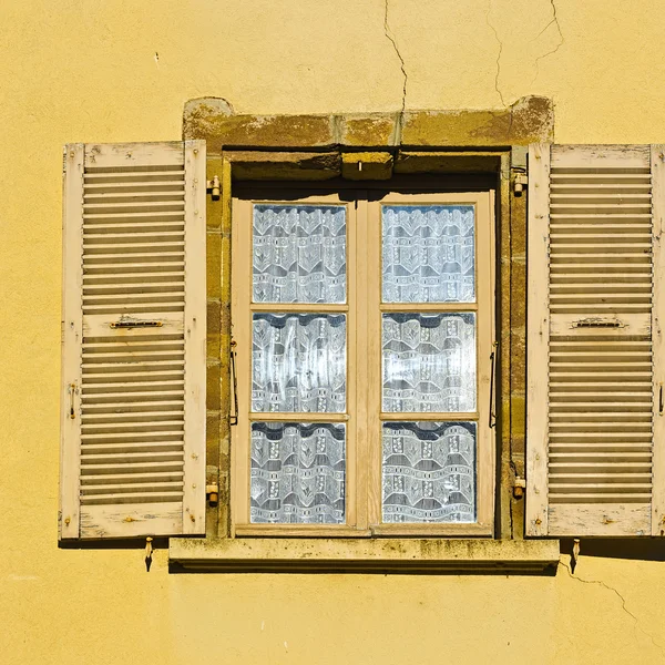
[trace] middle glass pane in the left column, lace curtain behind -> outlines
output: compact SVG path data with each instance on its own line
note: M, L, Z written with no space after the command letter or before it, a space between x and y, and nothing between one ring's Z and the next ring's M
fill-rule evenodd
M255 314L252 410L346 410L346 315Z

